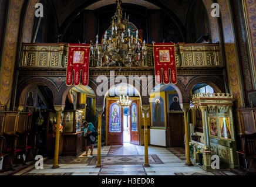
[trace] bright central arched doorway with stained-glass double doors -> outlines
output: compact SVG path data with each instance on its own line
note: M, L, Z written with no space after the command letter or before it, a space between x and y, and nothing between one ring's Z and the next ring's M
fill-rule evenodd
M129 96L129 106L119 106L120 96ZM129 84L117 84L105 95L106 146L140 145L140 95Z

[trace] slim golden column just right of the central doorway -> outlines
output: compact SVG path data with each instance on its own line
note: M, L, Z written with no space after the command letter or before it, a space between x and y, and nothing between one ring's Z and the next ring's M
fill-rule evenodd
M150 112L150 105L143 105L142 106L142 112L144 115L144 155L145 155L145 164L144 167L150 167L149 165L149 137L148 137L148 129L147 129L147 121L146 117L147 114Z

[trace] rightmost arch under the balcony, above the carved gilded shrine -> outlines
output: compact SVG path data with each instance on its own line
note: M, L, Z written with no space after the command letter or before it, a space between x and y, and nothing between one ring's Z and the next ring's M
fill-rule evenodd
M207 84L211 86L215 92L217 93L225 93L225 85L221 82L220 79L216 79L213 77L197 77L194 78L191 82L187 85L187 92L189 93L189 99L191 99L191 91L196 84Z

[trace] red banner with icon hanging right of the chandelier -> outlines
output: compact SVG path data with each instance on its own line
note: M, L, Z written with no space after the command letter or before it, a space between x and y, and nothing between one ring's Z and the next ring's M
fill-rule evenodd
M174 43L154 43L156 84L177 84Z

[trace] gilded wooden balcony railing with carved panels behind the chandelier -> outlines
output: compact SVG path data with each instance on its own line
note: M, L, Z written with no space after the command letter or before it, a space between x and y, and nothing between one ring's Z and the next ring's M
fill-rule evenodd
M187 44L175 46L176 65L179 67L223 67L219 44ZM64 68L68 61L68 44L65 43L23 43L22 61L19 67ZM147 57L142 67L153 67L153 46L147 45ZM97 63L91 61L91 68ZM107 68L107 67L106 67Z

